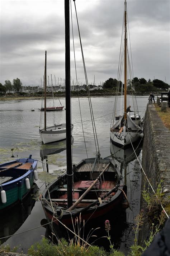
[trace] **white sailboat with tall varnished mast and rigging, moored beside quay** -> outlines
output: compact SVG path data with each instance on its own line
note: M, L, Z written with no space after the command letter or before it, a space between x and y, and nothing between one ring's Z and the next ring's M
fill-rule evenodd
M143 136L143 131L141 127L141 120L140 115L138 113L137 101L134 92L134 86L132 84L132 68L130 63L130 56L128 51L128 41L127 41L127 2L124 2L124 38L121 40L123 43L121 45L121 60L119 61L119 70L118 70L118 83L117 83L117 96L115 98L114 109L113 109L113 116L112 122L110 125L110 140L113 144L118 145L120 147L130 146L132 143L136 142L137 140L141 139ZM123 57L124 56L124 88L123 83L121 83L121 74L123 69ZM122 65L122 66L121 66ZM129 68L127 70L127 68ZM131 87L131 94L132 94L132 101L133 101L133 108L134 108L134 115L131 116L130 112L127 112L127 107L130 105L127 104L127 75L131 79L129 79L129 84ZM116 115L117 113L117 101L119 90L121 88L121 94L123 94L124 89L124 107L123 107L123 114L120 113L119 116ZM129 86L128 86L129 87ZM121 98L122 101L122 98ZM122 109L122 102L118 106L118 109Z

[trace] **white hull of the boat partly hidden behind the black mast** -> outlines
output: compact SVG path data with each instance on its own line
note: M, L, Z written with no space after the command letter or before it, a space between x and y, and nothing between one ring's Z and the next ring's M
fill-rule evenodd
M73 129L73 124L71 125L71 130ZM66 139L66 124L53 125L44 129L39 129L39 134L43 144L61 141Z

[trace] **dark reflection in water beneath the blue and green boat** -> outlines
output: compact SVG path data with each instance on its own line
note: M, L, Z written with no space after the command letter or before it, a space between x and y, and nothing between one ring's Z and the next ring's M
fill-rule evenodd
M29 194L23 199L0 213L0 242L8 240L25 222L35 205L36 200L33 196L36 194L38 186L33 184ZM1 239L3 238L3 239Z

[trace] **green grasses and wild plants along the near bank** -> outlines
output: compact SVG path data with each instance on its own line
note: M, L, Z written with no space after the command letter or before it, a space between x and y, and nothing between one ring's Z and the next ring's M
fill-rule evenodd
M162 193L162 181L158 184L156 193L150 193L148 189L142 192L143 199L145 200L146 206L145 211L142 209L140 214L136 218L136 225L134 226L134 243L126 252L128 256L141 256L144 251L150 246L156 234L164 227L164 223L167 219L165 212L162 211L162 206L165 208L167 214L170 214L170 207L167 199ZM161 206L162 205L162 206ZM138 233L142 228L143 223L148 223L150 226L150 234L147 240L144 241L144 246L138 244ZM112 238L110 237L109 231L113 228L110 226L109 220L105 221L105 234L101 239L107 239L110 243L110 251L105 251L104 248L98 246L92 246L88 242L80 243L80 239L74 238L68 243L65 239L61 239L58 245L53 244L49 239L43 237L40 242L32 245L28 254L32 256L125 256L125 254L114 248ZM0 253L13 251L16 252L17 248L10 249L9 246L1 246Z

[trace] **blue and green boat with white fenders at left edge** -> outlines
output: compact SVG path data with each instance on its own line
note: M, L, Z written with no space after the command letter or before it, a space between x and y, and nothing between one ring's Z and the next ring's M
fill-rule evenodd
M0 164L0 210L22 201L38 179L38 160L31 157Z

